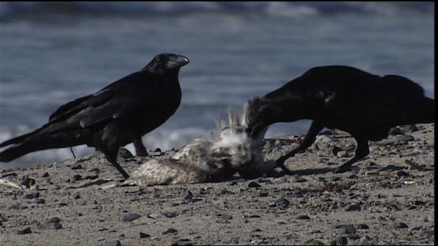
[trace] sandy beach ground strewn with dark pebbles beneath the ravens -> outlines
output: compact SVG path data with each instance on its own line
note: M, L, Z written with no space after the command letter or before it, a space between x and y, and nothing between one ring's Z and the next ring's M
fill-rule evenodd
M0 245L434 245L435 124L417 128L370 142L343 174L356 144L344 133L288 159L296 175L253 180L103 189L122 176L100 153L3 170ZM263 152L277 159L300 137ZM144 161L119 159L127 172Z

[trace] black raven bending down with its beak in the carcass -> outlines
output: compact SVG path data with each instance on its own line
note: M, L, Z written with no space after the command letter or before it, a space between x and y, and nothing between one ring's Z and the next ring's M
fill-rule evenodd
M345 172L370 153L368 140L388 136L391 127L435 122L435 100L420 85L398 75L379 77L348 66L311 68L301 77L248 101L253 108L248 133L258 135L276 122L313 120L298 148L277 160L284 162L313 143L322 128L346 131L357 141L355 157L339 167Z

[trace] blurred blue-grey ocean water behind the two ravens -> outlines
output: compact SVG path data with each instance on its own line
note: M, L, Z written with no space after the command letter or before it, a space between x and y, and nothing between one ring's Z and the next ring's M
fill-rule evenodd
M208 139L228 107L240 111L314 66L400 74L435 98L434 17L433 2L1 2L0 141L163 52L190 64L180 72L177 113L143 138L151 150ZM267 137L308 126L275 124ZM0 168L71 157L68 148L47 150Z

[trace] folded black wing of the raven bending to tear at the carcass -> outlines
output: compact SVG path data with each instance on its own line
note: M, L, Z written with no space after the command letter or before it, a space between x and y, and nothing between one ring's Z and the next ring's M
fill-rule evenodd
M324 92L331 113L365 125L403 124L424 98L420 85L397 75L371 75ZM404 123L407 124L407 123Z

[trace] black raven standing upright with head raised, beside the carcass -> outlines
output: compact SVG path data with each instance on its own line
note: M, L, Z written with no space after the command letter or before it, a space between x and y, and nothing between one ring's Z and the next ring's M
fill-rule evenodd
M179 107L178 73L189 60L182 55L160 54L140 72L134 72L99 92L62 105L41 128L0 144L10 148L0 161L50 148L87 144L101 150L123 175L117 163L118 148L133 142L140 156L147 156L142 136L166 122Z

